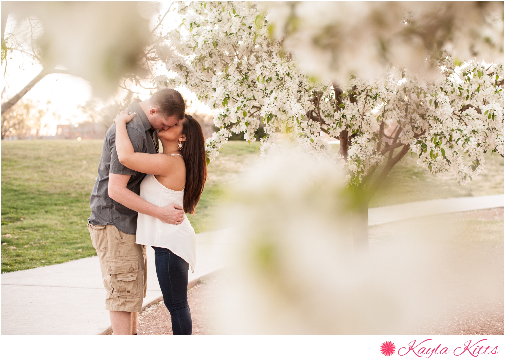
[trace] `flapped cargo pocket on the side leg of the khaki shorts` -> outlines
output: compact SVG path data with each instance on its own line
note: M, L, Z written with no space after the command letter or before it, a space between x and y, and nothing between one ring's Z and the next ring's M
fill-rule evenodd
M125 298L138 295L138 260L136 258L107 257L106 266L112 295Z

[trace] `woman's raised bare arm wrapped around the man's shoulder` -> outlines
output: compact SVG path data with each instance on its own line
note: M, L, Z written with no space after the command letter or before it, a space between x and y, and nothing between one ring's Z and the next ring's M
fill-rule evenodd
M174 159L165 154L135 153L131 144L126 123L131 121L135 113L121 112L114 119L116 123L116 152L121 164L130 169L147 174L167 175Z

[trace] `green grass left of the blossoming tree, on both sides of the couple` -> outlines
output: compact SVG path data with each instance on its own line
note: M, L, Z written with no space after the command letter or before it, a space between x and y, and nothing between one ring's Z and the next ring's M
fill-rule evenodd
M95 255L87 229L102 140L2 142L2 272ZM209 165L196 232L215 229L216 204L256 145L229 142ZM10 236L6 236L10 235ZM5 243L5 245L4 245Z

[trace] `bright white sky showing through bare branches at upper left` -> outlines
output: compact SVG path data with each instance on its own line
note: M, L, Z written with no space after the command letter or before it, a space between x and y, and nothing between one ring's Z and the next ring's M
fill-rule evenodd
M9 17L7 26L12 26L14 20ZM7 30L7 29L6 29ZM12 56L12 58L10 58ZM10 99L21 91L37 74L42 66L33 63L27 56L18 51L9 54L7 59L7 72L4 76L5 91L2 92L2 102ZM4 64L2 64L4 68ZM62 68L63 69L63 68ZM166 73L163 66L158 67L158 72ZM144 86L151 86L146 80ZM140 92L138 98L145 100L149 97L148 91L141 88L134 89ZM177 88L186 101L191 101L187 112L210 113L211 109L196 100L195 94L188 89ZM40 80L23 98L39 103L42 107L47 101L48 111L42 118L41 135L52 136L56 134L58 124L78 124L86 120L86 114L79 105L84 105L92 96L92 88L86 80L68 74L49 74Z

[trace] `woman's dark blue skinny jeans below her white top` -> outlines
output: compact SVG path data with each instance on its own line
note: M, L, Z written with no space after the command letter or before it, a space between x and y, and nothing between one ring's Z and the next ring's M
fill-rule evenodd
M187 296L189 263L167 248L153 248L163 301L172 318L172 332L190 335L193 324Z

